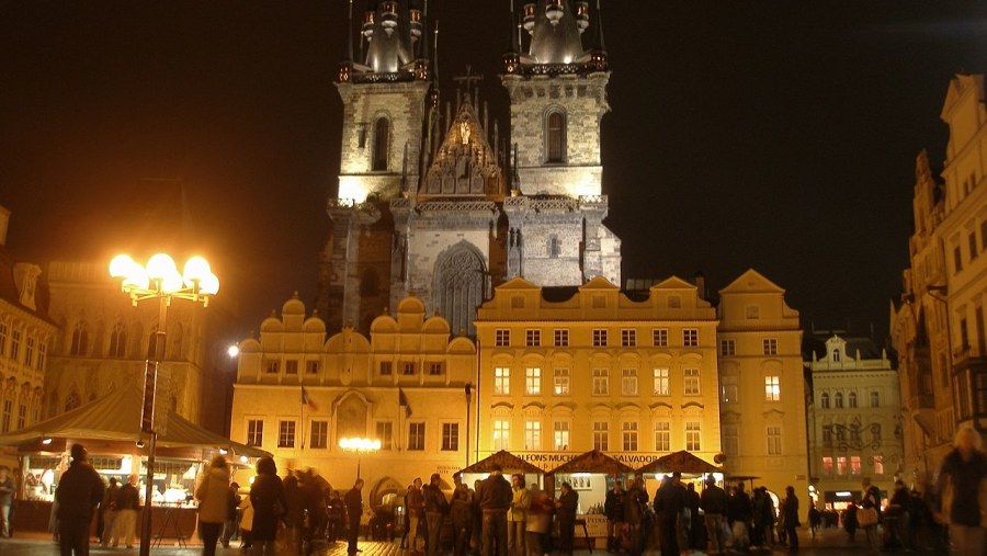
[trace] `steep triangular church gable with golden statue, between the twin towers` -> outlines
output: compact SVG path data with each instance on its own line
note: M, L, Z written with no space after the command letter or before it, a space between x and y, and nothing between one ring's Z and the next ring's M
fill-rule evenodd
M464 95L424 180L424 195L503 196L503 172L476 111Z

